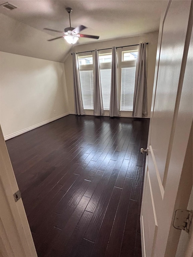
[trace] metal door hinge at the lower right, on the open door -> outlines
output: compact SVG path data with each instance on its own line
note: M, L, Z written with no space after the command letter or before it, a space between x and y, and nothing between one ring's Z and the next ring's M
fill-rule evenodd
M192 210L178 209L175 212L173 226L177 229L185 230L189 232L190 224L192 220Z

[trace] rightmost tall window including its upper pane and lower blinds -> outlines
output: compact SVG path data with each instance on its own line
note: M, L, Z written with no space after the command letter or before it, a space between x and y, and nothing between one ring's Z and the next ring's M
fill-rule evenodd
M122 51L121 111L133 111L137 58L138 50Z

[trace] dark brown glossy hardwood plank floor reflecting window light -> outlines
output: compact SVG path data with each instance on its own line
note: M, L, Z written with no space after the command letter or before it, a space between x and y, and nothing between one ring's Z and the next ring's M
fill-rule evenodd
M68 115L6 141L38 257L141 256L148 129Z

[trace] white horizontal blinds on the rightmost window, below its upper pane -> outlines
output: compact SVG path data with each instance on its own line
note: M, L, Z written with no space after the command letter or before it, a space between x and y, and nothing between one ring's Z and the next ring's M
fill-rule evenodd
M121 111L133 111L136 67L121 69Z

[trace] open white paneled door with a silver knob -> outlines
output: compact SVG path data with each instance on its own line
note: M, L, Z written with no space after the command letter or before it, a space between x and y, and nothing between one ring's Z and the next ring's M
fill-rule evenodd
M175 256L166 246L192 124L191 1L163 2L141 208L147 257Z

